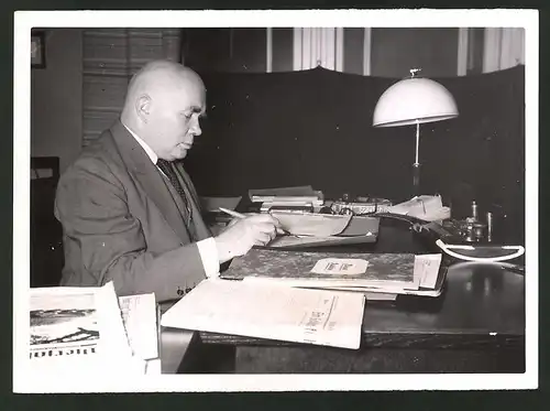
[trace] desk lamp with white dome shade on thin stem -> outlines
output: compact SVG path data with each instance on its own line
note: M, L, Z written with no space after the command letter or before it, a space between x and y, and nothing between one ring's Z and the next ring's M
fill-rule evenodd
M459 116L451 93L429 78L417 77L420 68L410 69L410 77L391 86L378 99L374 109L374 127L398 127L416 125L416 151L414 167L414 195L419 195L420 123L448 120Z

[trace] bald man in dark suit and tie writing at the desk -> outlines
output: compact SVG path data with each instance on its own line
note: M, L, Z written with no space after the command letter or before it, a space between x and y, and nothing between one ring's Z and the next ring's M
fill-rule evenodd
M206 89L191 69L152 62L130 82L119 121L59 179L55 215L64 228L62 285L101 285L120 295L177 299L220 264L271 241L268 215L232 221L212 237L184 159L205 112Z

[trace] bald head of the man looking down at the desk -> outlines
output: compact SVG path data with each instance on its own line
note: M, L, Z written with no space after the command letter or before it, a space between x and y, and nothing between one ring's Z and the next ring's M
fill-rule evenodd
M183 159L201 133L206 89L193 69L168 61L146 64L128 86L122 122L161 159Z

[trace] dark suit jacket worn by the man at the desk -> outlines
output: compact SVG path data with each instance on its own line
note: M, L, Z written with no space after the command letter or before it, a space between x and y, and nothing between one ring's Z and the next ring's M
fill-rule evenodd
M210 237L197 193L180 165L178 171L193 198L197 239ZM179 298L178 289L206 278L183 209L168 180L116 122L59 179L55 215L64 228L62 285L97 286L112 280L119 295Z

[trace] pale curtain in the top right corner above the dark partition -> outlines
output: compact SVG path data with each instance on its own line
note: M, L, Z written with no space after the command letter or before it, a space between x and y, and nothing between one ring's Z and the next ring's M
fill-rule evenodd
M525 29L486 28L483 73L525 64Z

